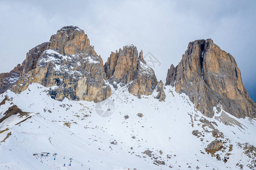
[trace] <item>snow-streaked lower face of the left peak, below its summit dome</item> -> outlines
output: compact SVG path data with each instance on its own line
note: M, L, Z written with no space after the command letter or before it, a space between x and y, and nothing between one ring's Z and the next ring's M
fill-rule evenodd
M54 50L46 50L40 56L36 68L20 77L11 88L22 92L31 83L52 87L53 99L86 100L99 102L111 95L111 89L104 82L103 62L100 56L70 54L63 56Z

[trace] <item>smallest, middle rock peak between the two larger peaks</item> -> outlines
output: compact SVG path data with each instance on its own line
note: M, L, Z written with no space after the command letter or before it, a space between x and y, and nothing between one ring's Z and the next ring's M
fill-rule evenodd
M138 97L151 95L157 84L154 70L146 64L142 51L138 54L134 45L126 45L118 52L112 52L104 69L114 87L118 83L121 86L127 84L129 92Z

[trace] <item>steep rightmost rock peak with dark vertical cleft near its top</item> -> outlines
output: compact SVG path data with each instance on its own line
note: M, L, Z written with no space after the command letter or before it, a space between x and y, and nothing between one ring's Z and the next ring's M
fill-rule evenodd
M210 39L189 42L179 65L168 69L166 84L187 94L205 116L213 117L213 107L222 107L238 118L256 117L234 57Z

